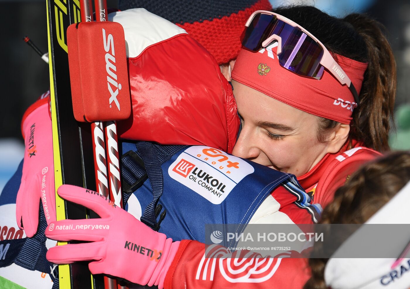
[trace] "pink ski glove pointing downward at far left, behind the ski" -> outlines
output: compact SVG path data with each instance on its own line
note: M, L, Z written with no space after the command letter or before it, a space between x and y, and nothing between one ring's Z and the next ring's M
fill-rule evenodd
M47 99L25 118L23 175L16 200L16 220L27 237L37 232L40 200L47 223L56 220L51 119ZM30 107L32 108L32 107ZM30 108L28 111L30 111Z

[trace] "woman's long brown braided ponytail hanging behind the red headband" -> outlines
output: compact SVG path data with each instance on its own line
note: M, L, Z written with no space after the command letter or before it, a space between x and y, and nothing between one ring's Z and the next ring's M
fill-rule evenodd
M363 14L349 14L343 20L363 38L369 63L364 73L360 103L353 111L349 140L360 140L377 151L388 151L390 117L396 97L396 62L392 48L379 22Z

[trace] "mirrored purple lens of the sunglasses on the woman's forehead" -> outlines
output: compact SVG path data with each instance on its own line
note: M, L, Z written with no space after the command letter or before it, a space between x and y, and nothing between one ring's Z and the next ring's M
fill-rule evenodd
M262 42L273 34L282 39L282 51L278 55L280 66L300 76L316 79L322 77L324 68L320 60L323 48L300 28L293 27L274 15L257 14L244 31L242 46L256 52L262 48Z

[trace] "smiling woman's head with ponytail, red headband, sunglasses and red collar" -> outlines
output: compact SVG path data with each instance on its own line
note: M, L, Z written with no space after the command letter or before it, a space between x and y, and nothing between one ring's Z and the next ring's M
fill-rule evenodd
M325 207L360 164L389 150L396 64L379 23L314 7L256 11L242 48L233 154L295 174Z

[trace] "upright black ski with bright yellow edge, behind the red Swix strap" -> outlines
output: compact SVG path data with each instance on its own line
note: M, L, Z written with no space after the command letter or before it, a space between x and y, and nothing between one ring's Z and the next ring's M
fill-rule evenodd
M47 0L50 97L55 189L64 184L96 190L91 128L73 117L66 30L81 19L79 0ZM67 203L56 193L57 220L84 219L84 207ZM63 245L65 242L59 242ZM59 265L60 289L100 289L102 278L91 278L87 262Z

